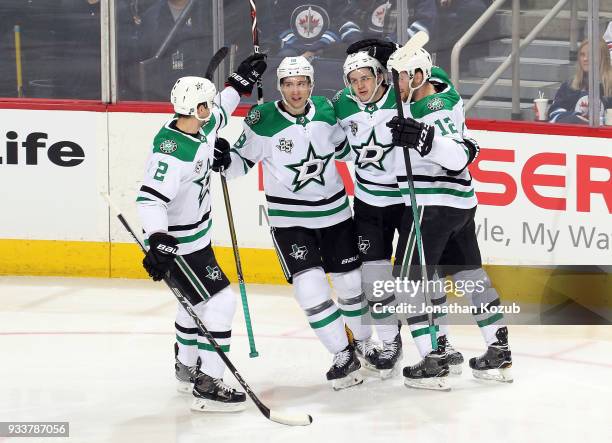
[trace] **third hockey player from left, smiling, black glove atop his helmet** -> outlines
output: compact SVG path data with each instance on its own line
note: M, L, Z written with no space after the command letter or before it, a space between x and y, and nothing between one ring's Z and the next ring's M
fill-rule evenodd
M381 307L396 303L390 291L375 297L372 283L392 278L391 255L395 232L406 231L402 223L406 208L400 193L396 163L403 162L403 154L394 149L387 123L397 115L395 91L387 83L388 57L397 48L394 43L369 39L351 45L344 63L346 88L334 97L334 108L340 125L351 145L351 159L355 162L355 225L359 238L363 286L370 304L383 350L376 369L383 378L391 376L401 363L402 342L395 317ZM365 51L373 51L376 57ZM379 60L380 59L380 60ZM382 62L382 63L381 63ZM436 294L434 299L442 298ZM441 335L448 336L445 326ZM451 369L461 372L463 356L452 351Z

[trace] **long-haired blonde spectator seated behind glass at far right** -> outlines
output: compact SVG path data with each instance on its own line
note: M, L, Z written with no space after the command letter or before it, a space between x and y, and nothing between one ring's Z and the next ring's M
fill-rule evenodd
M612 66L610 52L603 39L599 39L599 75L601 110L600 122L603 124L605 109L612 108ZM576 73L571 81L561 85L548 114L551 123L589 122L589 42L584 40L578 47Z

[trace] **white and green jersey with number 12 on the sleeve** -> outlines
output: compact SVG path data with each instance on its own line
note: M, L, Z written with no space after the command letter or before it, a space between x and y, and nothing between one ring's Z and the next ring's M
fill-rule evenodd
M478 204L467 165L472 160L463 139L470 137L465 126L463 101L446 72L434 66L430 81L439 91L408 106L405 116L434 126L432 150L421 157L410 150L412 174L418 205L469 209ZM395 150L400 191L409 203L408 181L403 152ZM458 172L461 171L461 172Z

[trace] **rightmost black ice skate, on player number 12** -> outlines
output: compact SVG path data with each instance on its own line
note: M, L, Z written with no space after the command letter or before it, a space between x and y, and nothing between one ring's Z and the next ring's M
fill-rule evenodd
M481 380L495 380L512 383L512 353L508 347L508 328L499 328L495 333L497 341L480 357L470 358L474 377Z

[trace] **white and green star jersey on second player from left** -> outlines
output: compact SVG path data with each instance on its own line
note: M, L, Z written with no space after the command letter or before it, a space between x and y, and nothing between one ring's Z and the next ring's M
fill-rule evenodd
M347 140L329 99L312 97L299 117L279 102L255 106L243 126L226 176L244 175L262 162L270 226L323 228L351 217L334 161Z

